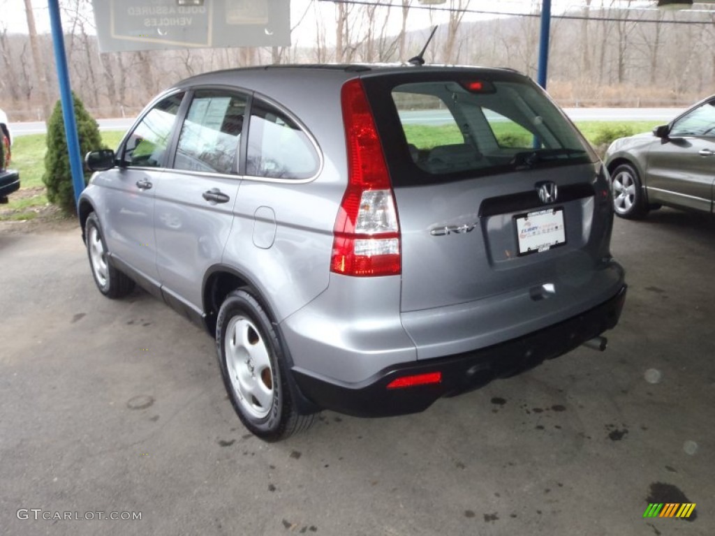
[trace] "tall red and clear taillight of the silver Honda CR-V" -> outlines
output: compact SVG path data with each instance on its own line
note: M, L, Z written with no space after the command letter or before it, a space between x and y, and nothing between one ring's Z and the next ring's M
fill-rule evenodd
M335 219L330 269L357 277L398 275L400 225L375 120L358 79L342 86L347 189Z

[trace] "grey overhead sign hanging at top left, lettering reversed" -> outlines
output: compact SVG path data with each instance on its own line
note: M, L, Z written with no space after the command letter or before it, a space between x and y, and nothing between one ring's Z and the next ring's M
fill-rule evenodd
M99 50L290 45L290 0L92 0Z

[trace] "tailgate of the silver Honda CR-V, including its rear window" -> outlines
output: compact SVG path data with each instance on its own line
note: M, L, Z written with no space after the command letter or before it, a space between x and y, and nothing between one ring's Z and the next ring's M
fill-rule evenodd
M397 201L403 312L548 292L595 269L605 179L540 89L465 74L395 82L383 97L397 115L373 104Z

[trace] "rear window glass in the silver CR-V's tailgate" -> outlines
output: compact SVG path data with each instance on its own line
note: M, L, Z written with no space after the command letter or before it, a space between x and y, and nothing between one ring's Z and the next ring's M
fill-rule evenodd
M425 81L393 87L411 162L431 175L590 161L556 106L515 81Z

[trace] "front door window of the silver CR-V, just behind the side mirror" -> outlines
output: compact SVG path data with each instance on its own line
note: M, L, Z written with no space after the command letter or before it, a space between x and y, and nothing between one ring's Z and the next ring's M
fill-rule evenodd
M174 131L183 93L167 97L139 121L124 144L122 162L127 166L162 167Z

